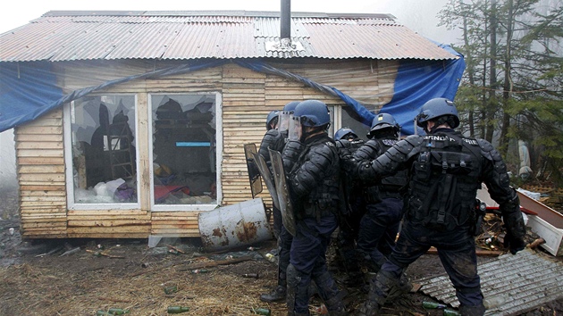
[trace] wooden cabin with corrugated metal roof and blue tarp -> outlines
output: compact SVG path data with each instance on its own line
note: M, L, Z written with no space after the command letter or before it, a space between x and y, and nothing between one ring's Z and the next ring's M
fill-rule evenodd
M1 34L22 237L199 237L199 212L252 198L243 146L268 112L319 99L331 133L363 136L455 94L463 58L391 15L291 12L286 38L281 14L47 12ZM399 94L401 67L449 88Z

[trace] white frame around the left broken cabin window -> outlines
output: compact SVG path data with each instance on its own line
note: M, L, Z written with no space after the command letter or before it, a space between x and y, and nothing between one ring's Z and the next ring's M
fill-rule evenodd
M133 96L135 97L135 151L136 157L139 157L139 97L137 94L128 93L106 93L96 96ZM64 164L65 175L66 175L66 199L67 208L69 210L76 211L88 211L88 210L132 210L140 209L140 192L139 192L139 159L135 160L136 163L136 177L137 177L137 203L108 203L108 204L86 204L86 203L76 203L74 200L74 174L73 174L73 162L72 162L72 128L71 128L71 106L74 106L74 101L69 104L64 104L63 106L63 134L64 134Z

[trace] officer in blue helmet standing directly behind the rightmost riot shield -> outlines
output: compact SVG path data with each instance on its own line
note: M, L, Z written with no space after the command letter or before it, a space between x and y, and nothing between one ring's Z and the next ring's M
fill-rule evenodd
M309 314L308 287L314 280L329 314L345 315L325 256L340 206L340 158L327 134L331 116L318 100L299 103L293 115L294 128L282 153L297 228L287 270L288 314Z

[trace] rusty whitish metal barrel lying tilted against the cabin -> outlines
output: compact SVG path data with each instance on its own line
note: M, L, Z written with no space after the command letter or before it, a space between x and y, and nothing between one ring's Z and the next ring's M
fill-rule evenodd
M262 198L200 212L197 224L207 251L252 245L273 237Z

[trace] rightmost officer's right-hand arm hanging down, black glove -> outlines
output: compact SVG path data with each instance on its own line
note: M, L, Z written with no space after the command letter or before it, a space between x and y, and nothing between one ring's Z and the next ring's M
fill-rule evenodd
M525 224L520 212L520 200L516 190L510 187L507 167L502 157L486 140L479 139L483 160L483 182L489 195L499 204L499 210L507 229L505 245L512 254L524 249Z

